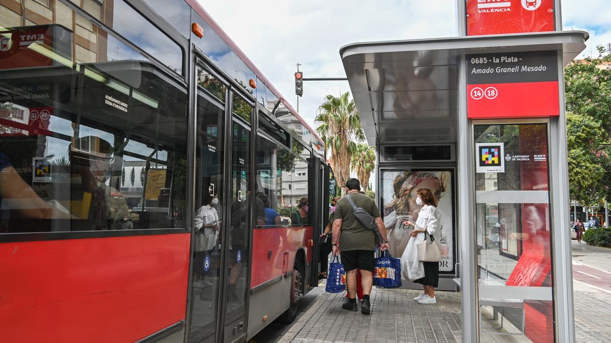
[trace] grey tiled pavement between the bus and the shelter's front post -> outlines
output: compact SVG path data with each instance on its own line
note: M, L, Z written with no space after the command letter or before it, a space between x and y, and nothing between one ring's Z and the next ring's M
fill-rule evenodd
M436 292L437 305L418 294L374 287L366 316L343 310L343 293L323 292L279 342L460 342L460 294Z

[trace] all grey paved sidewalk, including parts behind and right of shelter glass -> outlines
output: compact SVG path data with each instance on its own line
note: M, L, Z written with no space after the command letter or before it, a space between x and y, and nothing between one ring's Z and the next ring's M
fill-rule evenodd
M278 342L461 342L461 294L435 292L436 305L418 304L412 300L418 294L374 287L367 316L343 310L344 293L322 292ZM576 342L611 342L611 294L576 285L574 301ZM481 342L530 342L524 336L489 334L488 317Z

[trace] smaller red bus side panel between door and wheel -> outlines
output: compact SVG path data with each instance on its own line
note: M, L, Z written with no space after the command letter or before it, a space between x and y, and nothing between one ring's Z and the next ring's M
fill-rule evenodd
M251 288L293 270L299 247L306 248L306 261L311 263L312 247L309 241L313 231L312 226L255 229L252 234ZM269 250L272 252L271 258ZM288 252L287 256L285 252Z

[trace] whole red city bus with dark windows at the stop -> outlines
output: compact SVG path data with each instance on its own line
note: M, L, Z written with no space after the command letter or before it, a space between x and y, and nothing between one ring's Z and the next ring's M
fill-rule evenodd
M324 144L201 5L0 12L0 341L246 341L295 319Z

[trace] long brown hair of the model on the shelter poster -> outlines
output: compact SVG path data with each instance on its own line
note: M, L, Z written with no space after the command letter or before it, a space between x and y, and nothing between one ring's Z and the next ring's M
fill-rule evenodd
M420 182L426 179L436 179L439 181L439 190L434 193L437 200L441 199L445 193L445 187L447 187L449 173L447 171L441 172L441 177L437 177L435 173L430 171L406 171L397 175L393 182L393 200L384 206L384 215L388 215L393 211L397 212L408 212L409 211L409 193L418 186ZM407 194L405 194L407 192Z

